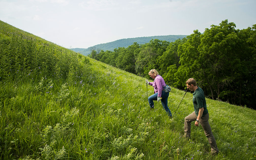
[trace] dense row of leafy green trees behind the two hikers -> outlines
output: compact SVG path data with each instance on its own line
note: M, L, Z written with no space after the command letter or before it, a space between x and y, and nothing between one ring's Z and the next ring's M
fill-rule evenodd
M226 19L175 42L152 39L114 51L92 50L88 56L147 78L156 69L178 89L193 77L209 98L255 109L256 24L235 27Z

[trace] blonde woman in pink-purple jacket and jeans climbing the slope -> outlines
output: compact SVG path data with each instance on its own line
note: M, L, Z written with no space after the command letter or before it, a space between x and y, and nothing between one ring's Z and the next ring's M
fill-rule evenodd
M154 109L154 102L153 101L161 101L163 108L167 112L169 117L172 117L172 113L170 109L168 108L168 96L169 92L165 92L164 88L166 87L165 81L162 76L158 74L158 72L155 69L152 69L148 72L148 75L150 75L151 78L154 79L153 82L149 82L146 80L147 84L154 87L154 94L148 97L148 103L150 105L150 109Z

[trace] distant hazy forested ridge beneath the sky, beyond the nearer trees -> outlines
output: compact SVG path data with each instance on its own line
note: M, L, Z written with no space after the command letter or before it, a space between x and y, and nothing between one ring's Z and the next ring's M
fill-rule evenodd
M134 42L137 42L137 44L145 44L148 43L152 39L159 39L159 40L165 40L168 42L174 42L177 39L182 39L186 37L187 35L168 35L168 36L151 36L151 37L137 37L137 38L125 38L125 39L119 39L115 40L113 42L108 42L104 44L98 44L89 48L71 48L71 50L78 52L83 55L89 55L92 50L109 50L114 51L115 48L118 47L128 47L132 45Z

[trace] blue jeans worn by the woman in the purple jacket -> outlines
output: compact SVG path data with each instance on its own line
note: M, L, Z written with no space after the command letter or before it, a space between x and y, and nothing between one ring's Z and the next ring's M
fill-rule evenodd
M150 108L154 108L154 102L153 101L157 100L157 94L158 93L155 93L155 94L148 97L148 103L150 105ZM167 105L169 92L165 93L164 91L162 91L162 96L161 97L162 97L161 103L163 105L164 110L166 111L168 116L172 116L172 113L171 113L171 111L170 111L170 109L168 108L168 105Z

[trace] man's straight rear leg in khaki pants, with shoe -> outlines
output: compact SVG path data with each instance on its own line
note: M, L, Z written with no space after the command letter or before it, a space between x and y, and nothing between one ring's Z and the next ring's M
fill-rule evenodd
M211 153L218 154L219 150L218 150L218 147L217 147L217 144L216 144L215 137L212 134L211 126L210 126L208 120L209 120L209 113L206 114L205 116L202 116L201 119L199 120L199 122L200 122L201 126L203 127L203 129L205 131L205 135L208 138L208 141L210 143Z

